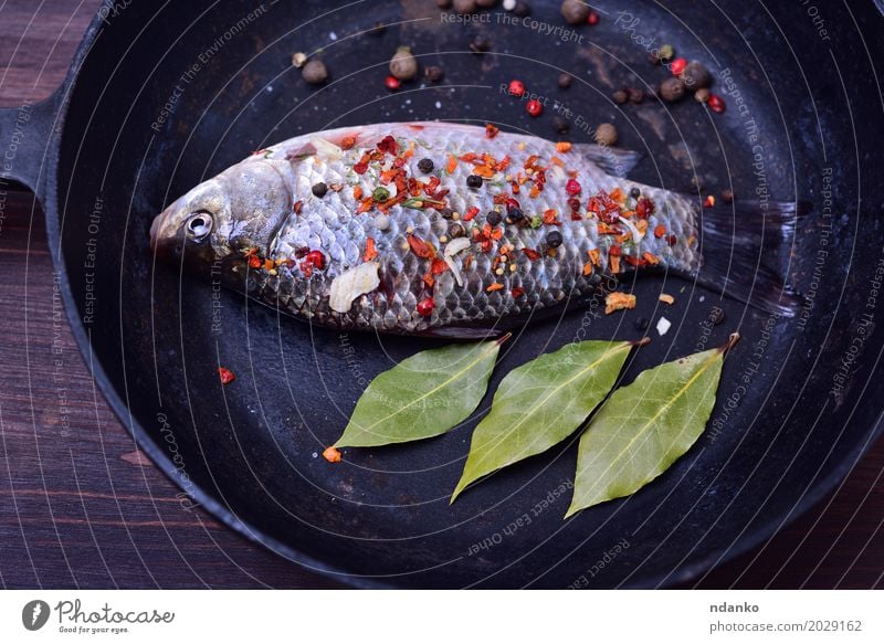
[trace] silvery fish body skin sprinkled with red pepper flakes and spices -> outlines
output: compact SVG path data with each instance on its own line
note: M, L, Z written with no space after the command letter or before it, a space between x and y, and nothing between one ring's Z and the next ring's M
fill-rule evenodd
M385 140L388 147L390 140L396 141L397 154L388 150L381 160L369 162L362 173L357 172L355 167L367 151L377 150L378 144L383 147ZM242 192L238 196L240 202L262 199L282 202L285 199L267 199L266 186L261 181L236 179L256 171L259 166L253 165L272 166L280 177L278 191L287 189L292 203L290 212L280 215L278 221L267 217L269 221L275 221L273 225L259 226L273 231L266 239L249 237L254 244L252 249L257 247L254 254L262 262L270 261L273 267L255 268L246 257L240 263L225 263L225 270L238 273L239 283L249 295L285 313L339 329L401 334L432 332L444 327L506 326L508 320L592 295L600 281L614 273L618 262L620 273L644 265L680 274L695 273L701 256L695 243L698 229L692 203L680 194L606 173L583 154L588 149L575 145L564 151L554 142L517 134L498 133L488 138L485 128L449 123L379 124L297 137L262 150L214 180L220 180L224 190ZM413 152L407 154L408 150ZM476 171L476 166L463 160L450 167L449 163L452 158L469 158L471 154L477 155L480 162L483 155L490 155L496 163L508 157L508 167L494 171L480 188L470 188L467 177ZM381 172L396 159L402 159L400 166L407 178L425 183L436 177L439 186L434 193L448 190L448 194L433 207L394 203L383 214L378 203L372 202L367 211L359 212L378 187L392 189L392 182L383 183ZM431 172L421 171L421 159L432 160ZM529 168L546 169L543 190L534 197L530 188L538 173L526 169L529 160L533 160ZM486 161L485 166L488 165ZM514 194L518 175L525 181ZM569 179L579 183L579 194L568 193ZM328 187L323 196L313 192L318 183ZM627 213L623 217L627 221L604 224L588 212L590 197L618 189L627 196L618 210ZM640 199L653 204L653 212L646 217L640 218L634 212L638 200L629 197L633 189L639 190ZM425 198L425 192L410 199L420 201L420 197ZM507 204L502 203L505 198L518 201L525 215L523 224L504 221L491 226L493 234L488 236L496 239L485 239L491 211L497 210L501 218L507 218ZM573 198L580 201L575 219L569 205ZM188 196L179 201L183 203L177 202L172 208L190 208ZM449 212L446 219L443 214L446 209L456 214ZM470 209L478 212L471 221L464 221ZM549 215L550 211L555 214ZM543 221L544 213L552 223L525 225L533 218ZM255 217L254 211L250 217ZM218 235L212 235L215 258L250 252L248 247L233 247L229 237L224 237L223 230L229 235L242 225L236 212L231 213L231 219L220 224ZM536 219L534 223L537 224ZM601 229L614 226L619 234L602 234ZM452 243L454 225L466 229L471 244L450 258L454 265L450 268L443 258ZM644 231L638 242L636 225ZM478 231L477 237L474 229ZM549 237L554 231L561 239L555 247ZM424 249L422 243L430 255L435 254L435 264L432 256L415 252L414 240L418 250ZM376 256L371 256L369 243L373 244ZM618 246L619 255L614 256L612 246ZM502 256L502 247L512 250ZM316 251L322 253L322 267L305 261L307 252ZM366 262L377 265L378 288L355 297L348 310L335 310L329 299L335 279ZM444 270L435 272L433 267ZM455 272L462 276L461 285ZM429 315L427 306L419 306L428 298L432 302Z

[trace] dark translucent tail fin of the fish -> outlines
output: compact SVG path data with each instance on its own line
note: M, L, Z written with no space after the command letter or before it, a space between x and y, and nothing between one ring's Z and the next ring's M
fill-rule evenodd
M735 201L703 209L698 284L770 314L793 317L803 298L787 282L788 255L806 201Z

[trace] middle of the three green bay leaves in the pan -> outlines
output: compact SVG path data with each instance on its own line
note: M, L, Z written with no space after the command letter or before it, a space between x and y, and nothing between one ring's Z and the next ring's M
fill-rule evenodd
M611 391L634 344L573 342L507 373L473 432L451 502L478 478L571 435Z

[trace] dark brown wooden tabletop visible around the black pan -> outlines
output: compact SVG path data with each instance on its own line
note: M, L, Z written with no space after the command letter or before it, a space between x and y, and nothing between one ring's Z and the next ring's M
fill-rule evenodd
M97 6L0 0L0 105L52 92ZM30 193L10 192L0 211L0 584L334 588L180 507L93 386L60 306L43 213ZM884 441L807 515L688 585L884 587L882 474Z

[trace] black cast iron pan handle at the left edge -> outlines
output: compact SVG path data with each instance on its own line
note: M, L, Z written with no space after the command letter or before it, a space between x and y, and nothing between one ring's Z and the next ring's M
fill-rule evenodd
M38 197L42 193L62 94L0 109L0 189L14 181Z

